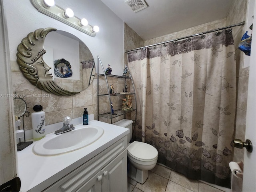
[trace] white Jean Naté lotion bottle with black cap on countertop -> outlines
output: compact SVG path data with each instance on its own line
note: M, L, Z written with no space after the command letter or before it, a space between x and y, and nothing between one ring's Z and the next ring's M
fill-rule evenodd
M41 105L35 105L33 107L35 112L31 114L34 140L40 140L45 137L45 112L42 109Z

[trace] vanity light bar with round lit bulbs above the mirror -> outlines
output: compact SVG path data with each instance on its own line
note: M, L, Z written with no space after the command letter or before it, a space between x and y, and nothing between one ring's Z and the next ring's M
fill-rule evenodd
M96 31L97 30L94 30L93 29L93 26L83 23L83 21L76 17L76 16L66 16L65 12L66 10L64 10L63 8L59 7L58 5L54 4L53 6L46 6L45 3L44 3L44 0L32 0L32 3L33 5L36 7L36 9L51 17L51 18L54 18L60 22L63 22L81 32L84 32L85 34L88 34L92 37L96 36ZM63 16L64 15L64 16ZM87 20L86 20L87 21ZM88 22L87 22L88 23Z

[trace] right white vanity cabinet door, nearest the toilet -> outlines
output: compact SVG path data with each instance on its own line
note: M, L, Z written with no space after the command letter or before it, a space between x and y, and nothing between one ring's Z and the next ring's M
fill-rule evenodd
M101 173L102 191L127 191L127 151L114 158Z

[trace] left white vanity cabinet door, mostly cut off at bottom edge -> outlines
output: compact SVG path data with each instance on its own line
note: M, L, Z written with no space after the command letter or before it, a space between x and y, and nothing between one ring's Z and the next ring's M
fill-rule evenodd
M101 191L101 180L102 180L101 172L98 172L90 180L88 180L82 187L80 187L77 191L81 191L81 192Z

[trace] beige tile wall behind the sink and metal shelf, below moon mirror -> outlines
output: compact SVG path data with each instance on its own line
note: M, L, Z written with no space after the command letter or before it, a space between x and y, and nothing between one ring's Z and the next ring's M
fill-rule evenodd
M94 119L98 119L97 74L95 74L95 78L92 84L79 94L76 94L74 96L56 96L54 94L46 93L38 89L36 86L30 84L30 82L26 78L24 78L22 72L20 72L18 64L16 62L12 62L11 68L14 93L16 92L20 95L21 98L24 98L28 106L27 111L30 114L34 112L34 105L42 105L43 111L46 113L46 125L62 122L65 116L70 116L71 118L78 118L83 115L84 108L87 108L88 114L94 114ZM114 91L116 93L122 92L125 86L124 79L122 78L108 78L108 84L114 84ZM130 82L127 81L126 84L128 87L128 91L133 91L133 89L131 89L130 87ZM103 76L99 78L99 90L102 94L108 93L106 81ZM45 94L45 96L35 96L41 94ZM122 108L122 98L124 98L124 96L111 97L114 110ZM110 111L108 97L101 96L99 99L99 103L100 114ZM124 116L119 116L117 118L114 118L113 122L116 122L123 118ZM130 118L130 116L127 116L127 118ZM100 118L100 120L110 123L110 119L108 118ZM28 117L24 117L24 127L25 130L32 129L31 115Z

